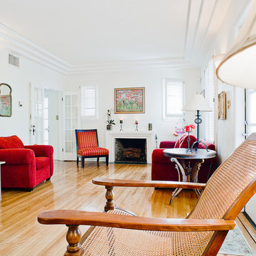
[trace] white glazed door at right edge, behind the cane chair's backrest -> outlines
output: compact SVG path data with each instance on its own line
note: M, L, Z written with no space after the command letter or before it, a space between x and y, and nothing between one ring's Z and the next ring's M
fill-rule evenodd
M246 114L245 114L245 134L248 137L252 132L256 132L256 90L246 90ZM245 212L256 223L256 194L252 196L245 206Z

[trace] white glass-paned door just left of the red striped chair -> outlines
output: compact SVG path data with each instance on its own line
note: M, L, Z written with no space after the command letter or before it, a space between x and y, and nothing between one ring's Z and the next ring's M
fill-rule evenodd
M80 126L80 107L78 92L64 92L64 147L63 159L76 160L75 129Z

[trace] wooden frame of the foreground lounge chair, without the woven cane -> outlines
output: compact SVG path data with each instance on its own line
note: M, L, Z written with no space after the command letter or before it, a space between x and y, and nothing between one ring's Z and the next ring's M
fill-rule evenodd
M256 134L249 139L256 141ZM226 160L228 161L228 160ZM226 162L225 161L225 162ZM224 162L224 164L225 164ZM213 174L213 176L216 175ZM210 178L210 180L213 178ZM208 183L210 182L208 181ZM125 181L111 178L94 178L92 183L105 186L107 199L105 211L115 208L114 186L122 187L154 187L154 188L206 188L208 183L189 183L176 181ZM176 232L214 231L202 255L217 255L228 230L235 228L235 218L247 201L256 192L256 176L252 178L235 201L231 203L225 211L223 218L219 219L169 219L169 218L147 218L139 216L116 215L112 213L94 213L79 210L51 210L38 215L38 222L42 224L65 224L68 226L67 241L68 247L65 256L80 255L81 243L85 241L85 236L81 239L79 225L104 226L112 228L126 228L132 230L159 230ZM203 193L201 193L201 196ZM201 197L200 196L200 197ZM198 202L200 198L198 199ZM198 203L197 203L198 204ZM197 206L196 204L196 206ZM196 208L195 206L195 208ZM194 208L194 209L195 209ZM189 215L193 213L193 210ZM188 217L189 217L188 215ZM91 229L92 230L92 229ZM81 243L80 243L81 242Z

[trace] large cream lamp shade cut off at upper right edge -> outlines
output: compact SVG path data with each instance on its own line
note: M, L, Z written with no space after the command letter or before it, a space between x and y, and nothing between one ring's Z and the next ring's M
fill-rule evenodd
M256 1L252 0L233 47L220 61L218 78L229 84L256 89Z

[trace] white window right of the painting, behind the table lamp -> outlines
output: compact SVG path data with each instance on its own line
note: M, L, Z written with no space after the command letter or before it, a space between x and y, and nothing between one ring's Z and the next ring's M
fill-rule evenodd
M163 115L169 117L183 117L184 82L171 78L164 79L163 83Z

